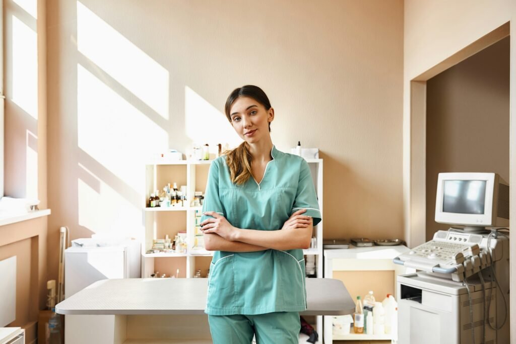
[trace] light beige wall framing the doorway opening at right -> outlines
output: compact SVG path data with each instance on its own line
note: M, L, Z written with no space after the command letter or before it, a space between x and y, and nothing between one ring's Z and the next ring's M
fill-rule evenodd
M461 49L470 46L475 41L488 35L489 32L501 27L507 22L510 25L510 83L516 80L516 68L514 62L516 54L516 2L512 0L501 0L495 3L489 1L466 1L458 0L448 2L437 0L423 2L418 0L405 1L404 15L404 97L403 97L403 175L404 175L404 216L405 216L405 237L411 246L421 244L425 240L426 224L426 195L425 195L425 174L426 168L421 160L417 164L412 161L417 154L424 156L424 144L414 140L414 137L423 136L424 125L420 125L422 118L414 118L414 102L416 106L422 101L420 97L412 97L412 91L418 88L418 83L411 83L411 80L418 79L432 67L442 61L453 57ZM464 56L466 58L467 56ZM457 61L459 62L459 61ZM433 76L433 75L431 75ZM430 77L431 77L430 76ZM416 90L417 91L417 90ZM421 90L420 90L421 91ZM421 92L417 92L421 94ZM516 89L509 91L510 103L516 104ZM423 99L424 100L424 99ZM424 113L424 112L423 112ZM417 123L414 131L413 124ZM510 146L510 177L509 183L516 180L516 150L512 149L516 139L516 108L510 108L509 127ZM423 152L423 153L420 153ZM516 196L511 192L511 226L516 221L514 204ZM516 254L516 243L511 242L511 255ZM516 288L516 265L511 264L511 289ZM511 299L511 313L516 309L516 298ZM512 342L516 333L516 322L511 323Z

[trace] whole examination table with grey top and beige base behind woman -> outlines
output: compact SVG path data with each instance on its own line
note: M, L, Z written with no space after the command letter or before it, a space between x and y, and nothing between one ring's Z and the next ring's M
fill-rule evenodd
M355 304L340 280L307 278L307 311L346 315ZM211 343L204 314L208 280L110 279L91 284L56 305L70 344ZM317 329L319 343L322 343Z

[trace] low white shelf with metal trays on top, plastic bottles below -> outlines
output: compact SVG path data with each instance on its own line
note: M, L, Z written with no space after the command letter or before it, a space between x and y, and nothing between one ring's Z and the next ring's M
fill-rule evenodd
M349 249L331 249L324 250L325 260L325 278L333 278L333 271L379 271L392 270L395 276L399 274L409 273L412 270L402 265L393 263L393 259L410 251L403 245L398 246L372 246L372 247L354 247ZM394 279L394 297L396 300L396 278ZM325 343L331 344L333 340L392 340L392 335L367 335L353 333L351 331L346 335L334 335L331 316L324 317L324 337Z

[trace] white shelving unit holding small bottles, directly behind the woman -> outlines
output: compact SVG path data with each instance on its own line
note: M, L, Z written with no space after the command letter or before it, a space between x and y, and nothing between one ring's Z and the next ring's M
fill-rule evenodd
M192 278L200 269L201 277L206 277L211 262L212 252L196 248L196 214L200 215L202 207L191 207L195 191L206 190L208 176L208 161L166 161L159 159L146 165L146 199L144 200L144 235L142 238L141 277L148 278L155 271L167 276L175 274L179 269L179 277ZM322 213L322 159L307 159ZM186 185L187 202L184 207L148 208L147 203L151 193L163 190L167 183L177 183L178 188ZM322 223L314 227L312 237L316 238L313 248L303 250L305 255L315 256L316 277L322 278ZM153 240L163 239L169 235L171 239L180 232L186 232L187 251L185 253L148 253L153 246ZM307 319L313 322L312 319ZM322 336L322 316L315 319L316 329Z

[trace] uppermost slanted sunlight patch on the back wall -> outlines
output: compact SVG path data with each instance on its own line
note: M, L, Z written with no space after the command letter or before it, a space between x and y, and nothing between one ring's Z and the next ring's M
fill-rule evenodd
M77 49L168 119L168 71L80 2L77 2Z

